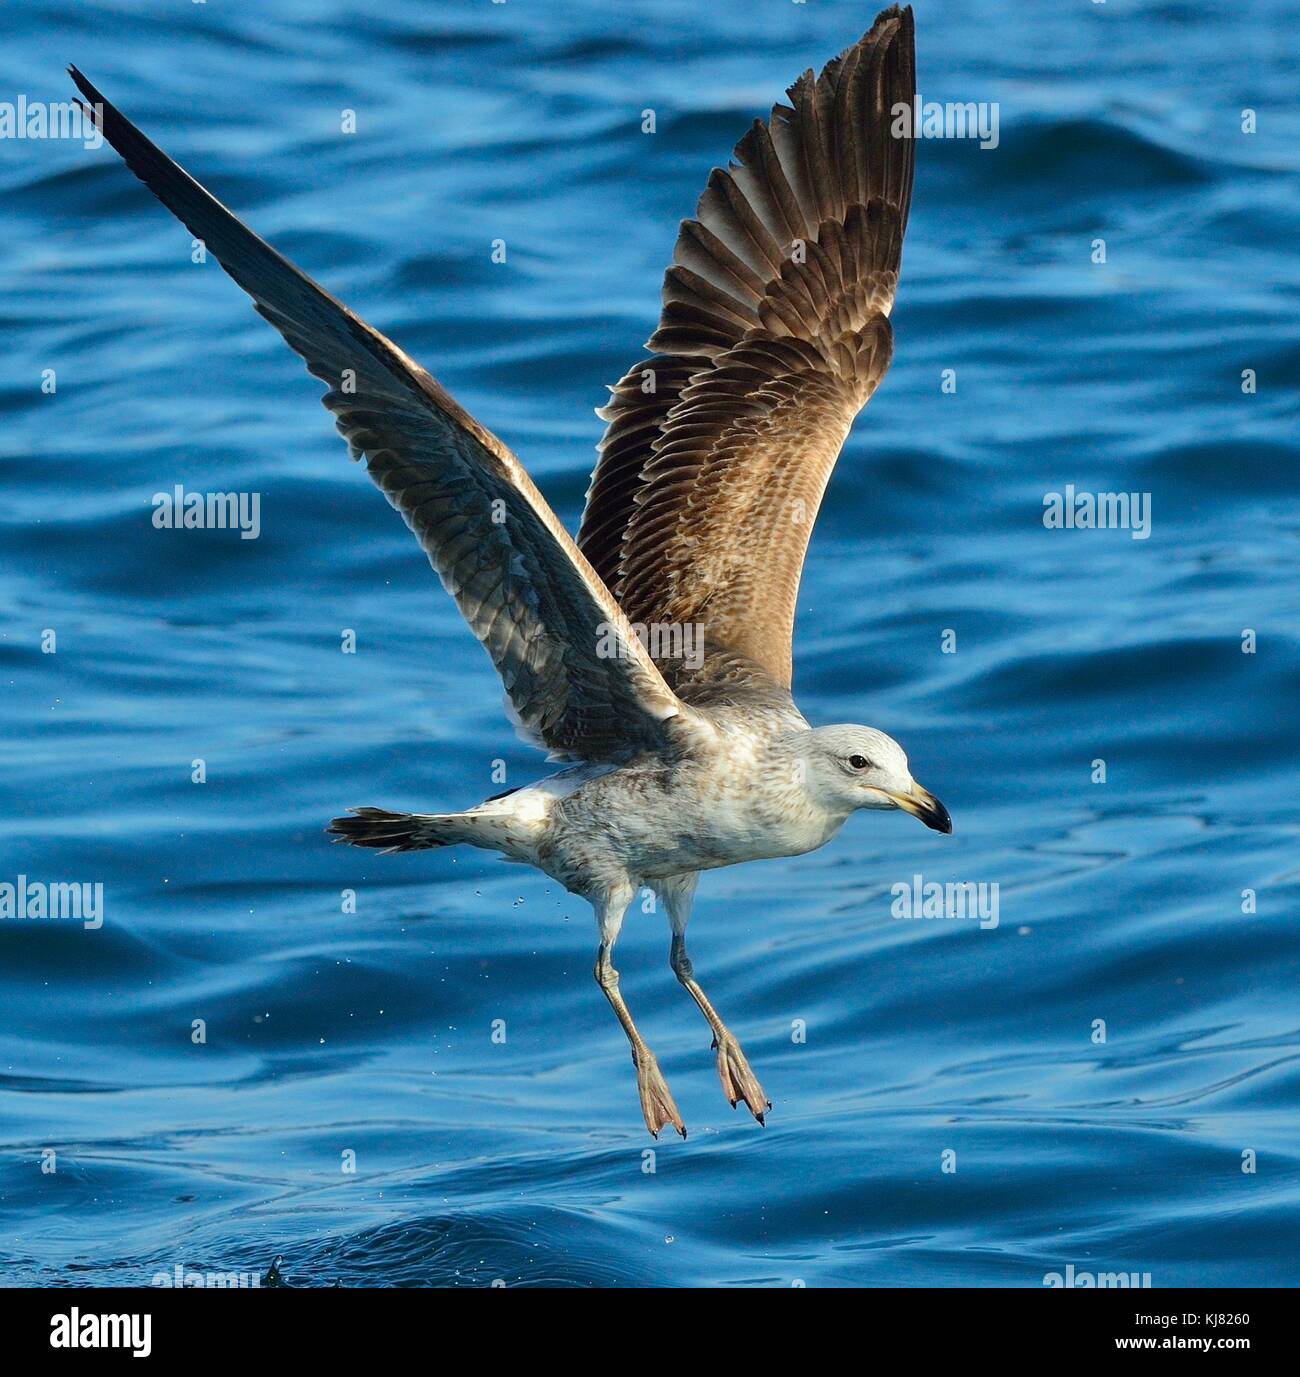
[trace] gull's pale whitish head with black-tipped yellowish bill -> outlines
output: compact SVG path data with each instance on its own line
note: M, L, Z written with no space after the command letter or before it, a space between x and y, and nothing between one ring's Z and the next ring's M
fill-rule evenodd
M902 808L935 832L952 832L947 808L908 768L903 748L874 727L817 727L800 733L804 785L832 812Z

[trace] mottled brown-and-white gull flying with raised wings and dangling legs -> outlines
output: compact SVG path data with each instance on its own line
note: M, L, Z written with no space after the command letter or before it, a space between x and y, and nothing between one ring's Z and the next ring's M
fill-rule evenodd
M646 1126L684 1137L613 965L628 905L653 890L723 1091L763 1124L767 1095L686 953L700 872L813 851L859 808L952 830L898 742L810 727L790 695L813 521L892 353L913 140L891 125L916 95L912 10L883 11L819 76L806 72L713 169L682 222L658 329L600 412L576 541L430 373L72 76L131 171L328 384L353 459L488 650L516 724L566 764L463 812L354 808L329 830L381 851L482 847L588 899L595 976L632 1047ZM695 632L698 653L682 654Z

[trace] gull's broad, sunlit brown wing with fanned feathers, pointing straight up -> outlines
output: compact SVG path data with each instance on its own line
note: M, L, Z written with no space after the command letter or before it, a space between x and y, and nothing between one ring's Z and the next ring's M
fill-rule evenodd
M852 419L890 366L916 96L912 10L806 72L684 220L609 428L578 545L632 622L790 682L804 552ZM676 682L672 666L662 668Z

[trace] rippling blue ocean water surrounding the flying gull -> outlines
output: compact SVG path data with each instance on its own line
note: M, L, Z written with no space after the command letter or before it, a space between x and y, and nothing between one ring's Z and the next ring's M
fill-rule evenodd
M872 15L30 0L0 102L76 62L573 525L678 219ZM633 913L691 1129L657 1146L585 903L322 834L545 767L318 386L107 147L0 139L0 881L103 885L98 929L0 921L0 1279L1300 1279L1297 23L917 4L923 98L997 102L998 143L917 149L796 694L898 737L956 830L859 815L702 881L766 1129ZM260 493L259 538L156 530L178 483ZM1149 493L1149 537L1045 529L1066 485ZM997 925L894 917L917 874L997 885Z

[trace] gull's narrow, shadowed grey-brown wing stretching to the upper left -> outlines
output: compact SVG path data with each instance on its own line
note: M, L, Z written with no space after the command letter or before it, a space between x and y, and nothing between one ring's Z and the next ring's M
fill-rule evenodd
M558 755L618 759L683 711L515 456L395 344L277 253L72 69L127 167L256 303L406 519L505 683Z

